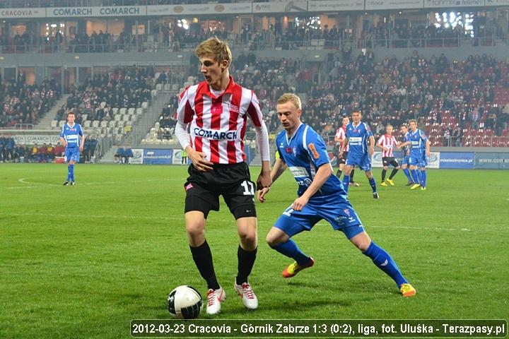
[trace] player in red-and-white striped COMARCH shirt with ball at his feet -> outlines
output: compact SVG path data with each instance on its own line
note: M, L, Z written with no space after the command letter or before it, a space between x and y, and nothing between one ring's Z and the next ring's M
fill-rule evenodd
M271 184L269 136L257 96L233 81L228 67L232 56L226 42L213 37L201 42L195 54L205 80L189 86L180 95L175 135L192 161L184 185L185 222L189 247L201 277L209 288L207 314L218 314L225 291L213 268L212 254L205 238L210 210L219 210L223 196L237 220L240 237L238 273L233 283L247 309L256 309L258 299L247 281L257 254L257 215L254 183L245 162L244 134L247 118L254 124L262 157L258 189ZM189 133L188 133L189 128Z

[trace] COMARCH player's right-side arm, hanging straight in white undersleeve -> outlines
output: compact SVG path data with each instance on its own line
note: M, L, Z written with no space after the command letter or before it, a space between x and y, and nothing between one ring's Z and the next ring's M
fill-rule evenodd
M257 146L262 158L262 170L257 179L257 189L270 187L271 169L270 169L270 154L269 154L269 131L262 117L262 109L259 107L257 96L251 92L251 102L247 107L247 116L251 118L254 124L254 131L257 136Z

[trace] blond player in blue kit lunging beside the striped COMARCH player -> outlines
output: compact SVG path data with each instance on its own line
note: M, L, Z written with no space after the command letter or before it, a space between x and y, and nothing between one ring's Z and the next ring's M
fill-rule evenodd
M332 165L321 136L310 126L300 122L302 113L297 95L283 94L277 102L277 114L283 125L276 138L279 158L271 171L272 182L288 167L298 183L295 201L276 221L267 234L267 243L279 253L295 262L283 270L284 278L295 276L300 270L314 265L315 261L299 249L291 237L309 231L320 220L327 220L334 230L341 230L352 244L397 283L404 297L416 290L406 281L391 256L371 241L361 220L346 198L341 180L332 175ZM348 184L348 182L347 182ZM269 187L259 192L264 203Z

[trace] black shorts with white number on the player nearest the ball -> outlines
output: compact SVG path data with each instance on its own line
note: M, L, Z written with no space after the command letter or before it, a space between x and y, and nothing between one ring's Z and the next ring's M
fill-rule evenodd
M187 169L189 177L184 184L186 190L185 213L199 210L205 218L210 210L219 210L219 196L223 196L230 212L238 218L256 217L254 191L249 167L238 164L214 164L209 172L199 172L194 165Z

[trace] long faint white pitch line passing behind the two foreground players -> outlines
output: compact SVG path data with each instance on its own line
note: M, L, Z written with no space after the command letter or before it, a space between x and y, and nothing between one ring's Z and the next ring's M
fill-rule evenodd
M86 218L95 218L95 219L131 219L131 220L177 220L182 221L182 225L184 225L184 216L182 215L182 218L175 218L175 217L156 217L156 216L136 216L136 215L92 215L92 214L86 214L86 215L76 215L76 214L52 214L52 213L1 213L0 215L16 215L16 216L41 216L41 217L59 217L59 218L80 218L80 219L86 219ZM275 220L274 220L275 221ZM213 222L232 222L235 223L235 220L213 220ZM273 221L267 221L267 220L258 220L259 224L274 224ZM326 222L318 222L317 225L328 225ZM408 226L370 226L369 228L395 228L395 229L405 229L405 230L416 230L416 227L408 227ZM419 230L440 230L440 231L470 231L468 228L442 228L442 227L417 227Z

